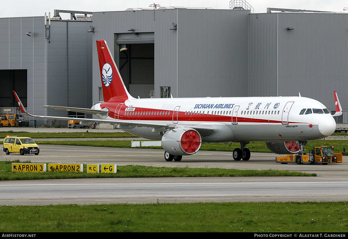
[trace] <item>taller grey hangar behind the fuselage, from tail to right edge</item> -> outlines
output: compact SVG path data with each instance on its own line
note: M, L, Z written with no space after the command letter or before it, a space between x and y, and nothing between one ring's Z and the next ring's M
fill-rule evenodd
M300 92L334 110L336 90L345 109L338 123L348 123L347 20L345 13L274 8L94 12L93 101L101 87L95 40L104 39L133 97Z

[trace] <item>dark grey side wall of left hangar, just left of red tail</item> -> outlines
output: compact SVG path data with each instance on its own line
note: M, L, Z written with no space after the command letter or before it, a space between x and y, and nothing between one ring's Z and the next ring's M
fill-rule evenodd
M51 21L47 44L48 105L92 107L92 22ZM48 109L50 115L64 115Z

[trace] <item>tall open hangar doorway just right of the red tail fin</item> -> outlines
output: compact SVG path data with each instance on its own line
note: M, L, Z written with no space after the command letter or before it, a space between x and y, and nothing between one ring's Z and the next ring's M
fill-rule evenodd
M115 57L129 93L137 98L150 98L155 87L155 34L119 33Z

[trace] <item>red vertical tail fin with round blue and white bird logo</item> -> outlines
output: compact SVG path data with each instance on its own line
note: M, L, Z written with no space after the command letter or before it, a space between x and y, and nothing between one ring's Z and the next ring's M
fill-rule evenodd
M97 41L97 51L104 102L133 99L123 83L106 41Z

